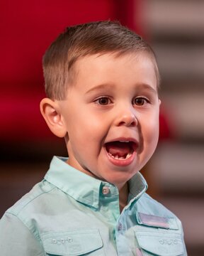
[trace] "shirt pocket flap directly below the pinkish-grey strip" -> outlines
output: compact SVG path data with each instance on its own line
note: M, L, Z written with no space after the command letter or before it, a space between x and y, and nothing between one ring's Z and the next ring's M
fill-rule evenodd
M179 256L183 254L183 242L178 233L135 231L135 235L142 250L154 255Z

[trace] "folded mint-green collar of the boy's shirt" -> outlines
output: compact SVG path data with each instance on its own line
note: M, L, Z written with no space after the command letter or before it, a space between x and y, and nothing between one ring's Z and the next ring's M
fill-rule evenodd
M118 195L118 188L111 183L84 174L66 163L67 158L54 156L45 180L52 183L76 201L98 209L99 196L104 187L108 187L111 196ZM135 174L129 181L130 203L140 198L147 189L145 178L140 173Z

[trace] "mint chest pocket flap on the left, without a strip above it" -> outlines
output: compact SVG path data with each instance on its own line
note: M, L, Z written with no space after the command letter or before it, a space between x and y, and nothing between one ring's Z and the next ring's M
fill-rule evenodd
M46 255L103 255L103 242L97 229L45 233L41 238Z

